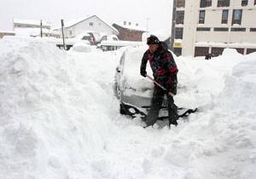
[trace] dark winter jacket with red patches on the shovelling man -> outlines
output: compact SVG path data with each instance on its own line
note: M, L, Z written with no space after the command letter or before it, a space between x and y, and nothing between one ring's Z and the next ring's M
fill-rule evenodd
M163 44L160 44L154 54L148 49L143 55L141 73L146 72L148 61L153 71L154 80L176 95L178 70L172 53L164 48Z

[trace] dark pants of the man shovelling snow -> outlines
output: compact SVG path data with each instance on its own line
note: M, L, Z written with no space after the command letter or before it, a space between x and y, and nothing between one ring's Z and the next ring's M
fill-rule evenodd
M164 96L167 95L167 108L169 116L169 125L177 125L177 106L174 104L172 95L166 94L165 90L160 89L158 86L154 86L153 98L151 101L151 106L146 117L145 123L148 125L153 125L158 118L160 107L164 101Z

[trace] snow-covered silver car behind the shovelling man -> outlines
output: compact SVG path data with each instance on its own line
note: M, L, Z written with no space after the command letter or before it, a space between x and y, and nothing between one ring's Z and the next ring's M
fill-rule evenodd
M129 115L131 118L145 118L153 96L154 83L149 78L140 75L140 65L143 53L148 49L146 45L127 47L119 57L114 77L114 94L119 99L119 113ZM175 56L175 55L173 55ZM152 70L147 65L148 74ZM180 117L195 113L196 109L177 107ZM160 109L159 119L168 118L167 99L164 97Z

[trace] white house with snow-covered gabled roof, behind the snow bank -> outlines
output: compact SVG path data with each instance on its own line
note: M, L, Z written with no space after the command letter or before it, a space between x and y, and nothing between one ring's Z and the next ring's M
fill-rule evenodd
M84 32L97 32L104 34L118 35L119 32L113 26L109 25L96 15L77 20L64 20L64 36L65 38L74 38ZM61 34L61 28L55 29Z

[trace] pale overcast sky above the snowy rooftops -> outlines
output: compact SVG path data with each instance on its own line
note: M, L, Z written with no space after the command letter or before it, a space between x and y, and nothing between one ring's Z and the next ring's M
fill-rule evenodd
M172 0L1 0L0 31L11 31L13 18L49 20L57 26L61 19L72 20L98 15L109 23L131 21L157 31L170 28Z

